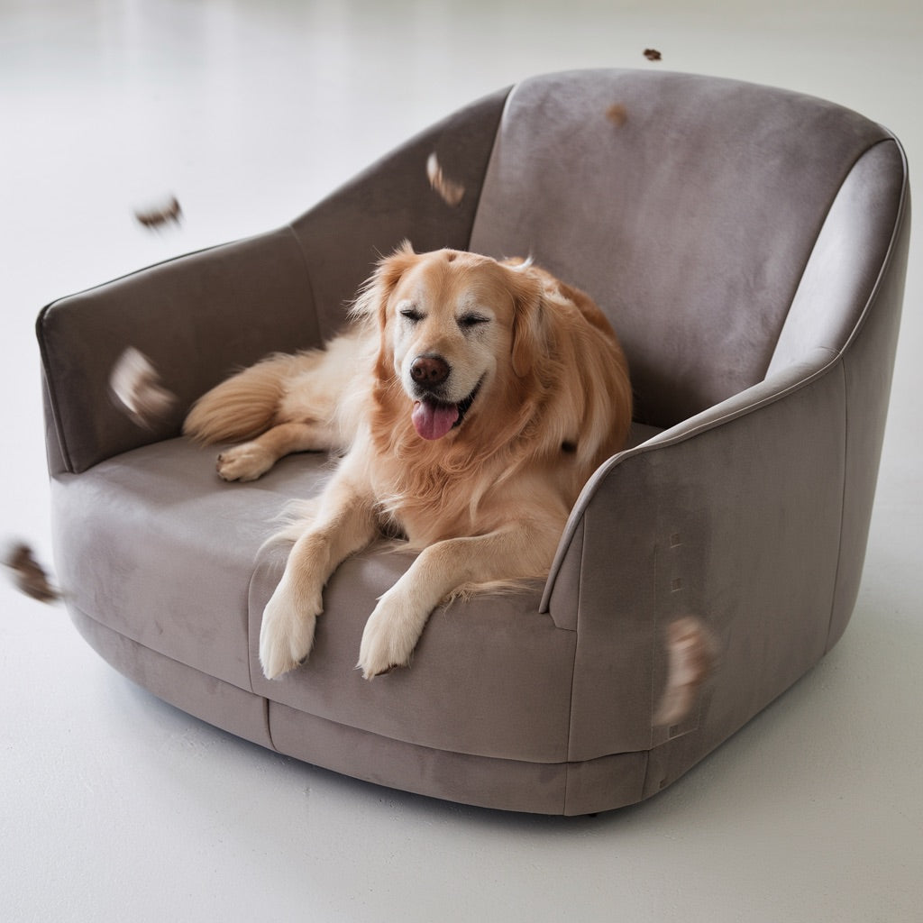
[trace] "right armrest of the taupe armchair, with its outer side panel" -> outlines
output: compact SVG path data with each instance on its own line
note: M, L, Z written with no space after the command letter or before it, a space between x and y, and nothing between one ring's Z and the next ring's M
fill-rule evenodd
M721 652L708 702L714 743L821 657L845 441L843 360L818 350L593 476L544 601L578 634L570 760L651 749L698 726L698 714L653 726L664 632L679 616L700 617Z

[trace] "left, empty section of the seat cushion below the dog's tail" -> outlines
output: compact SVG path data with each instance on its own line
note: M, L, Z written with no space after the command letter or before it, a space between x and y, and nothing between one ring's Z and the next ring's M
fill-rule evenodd
M321 456L226 484L214 450L169 439L53 480L54 543L69 601L157 653L251 689L247 594L286 498L325 477Z

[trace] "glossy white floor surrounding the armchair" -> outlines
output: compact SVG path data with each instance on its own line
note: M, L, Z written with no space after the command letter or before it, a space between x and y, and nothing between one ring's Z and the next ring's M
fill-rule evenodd
M282 224L462 103L571 66L824 96L913 171L921 46L916 0L0 0L0 542L51 557L32 325L55 297ZM185 222L145 232L132 209L170 191ZM921 251L850 628L677 785L577 820L363 785L162 704L4 584L0 918L923 920Z

